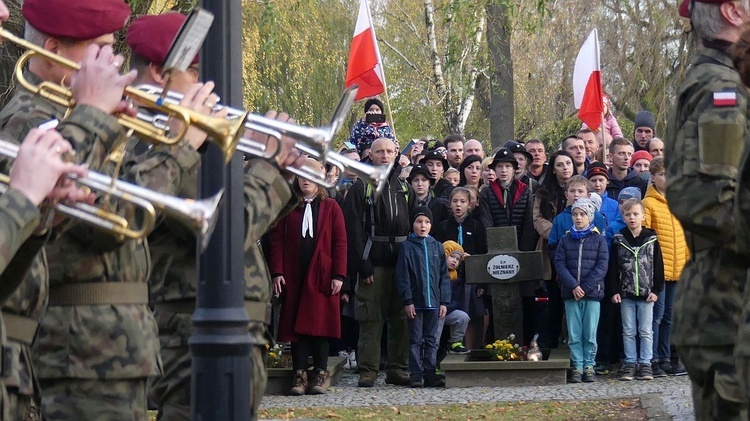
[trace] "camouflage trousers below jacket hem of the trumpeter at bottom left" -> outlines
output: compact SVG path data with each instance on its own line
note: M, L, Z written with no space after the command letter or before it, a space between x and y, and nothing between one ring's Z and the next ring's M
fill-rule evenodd
M142 421L147 419L146 378L41 381L45 420Z

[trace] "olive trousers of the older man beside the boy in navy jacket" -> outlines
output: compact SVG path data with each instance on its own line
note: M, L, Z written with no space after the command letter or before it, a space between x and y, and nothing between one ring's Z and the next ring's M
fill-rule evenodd
M378 372L383 322L388 323L388 365L386 370L406 371L409 335L406 312L396 291L395 268L375 267L375 282L357 283L354 304L359 321L357 363L360 372Z

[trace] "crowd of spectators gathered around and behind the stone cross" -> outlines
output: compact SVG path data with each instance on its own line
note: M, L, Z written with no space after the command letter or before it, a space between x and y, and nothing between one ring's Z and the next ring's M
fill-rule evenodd
M381 114L381 105L368 100L365 112ZM619 127L611 108L607 115L605 130ZM374 165L398 164L379 196L343 174L328 192L343 209L348 270L333 278L326 271L325 279L343 280L344 308L354 303L354 311L343 311L344 324L359 325L358 332L349 327L335 336L357 335L356 347L334 342L330 353L357 367L363 387L373 385L380 369L386 383L442 385L436 367L446 353L503 339L493 338L487 287L466 282L463 259L487 253L487 228L513 226L519 250L545 256L545 279L520 283L522 345L536 334L543 347L565 343L572 382L594 381L595 372L620 362L623 380L685 374L672 358L669 331L674 286L689 254L666 206L663 142L655 137L654 117L644 111L635 120L632 140L582 127L562 139L549 160L536 139L511 140L487 153L476 139L450 135L415 139L401 151L387 122L368 128L361 120L347 142L353 148L343 152L356 149L358 159ZM634 275L633 268L640 272ZM281 301L282 317L293 300ZM292 324L304 325L310 313L292 306ZM331 310L338 310L335 302L324 314ZM279 340L286 340L281 332L288 323L279 321ZM297 373L295 393L306 385L306 370Z

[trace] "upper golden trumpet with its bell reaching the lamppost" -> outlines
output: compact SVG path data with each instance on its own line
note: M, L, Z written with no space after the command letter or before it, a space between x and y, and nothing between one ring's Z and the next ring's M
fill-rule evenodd
M78 63L19 38L4 28L0 28L0 38L8 40L28 50L18 59L15 67L15 76L21 86L42 98L67 107L68 109L75 105L70 89L62 85L62 83L54 84L51 82L42 82L39 85L35 85L24 77L23 69L26 66L26 62L34 56L43 57L46 60L71 70L79 70L81 66ZM208 137L211 138L222 150L225 160L228 163L244 132L242 120L232 121L207 116L185 107L181 107L177 104L162 101L158 96L149 95L133 87L125 88L125 96L145 104L147 107L157 109L182 122L181 129L175 135L173 133L165 132L153 125L145 124L138 118L130 117L128 115L118 116L118 121L123 127L133 130L140 137L153 143L162 143L166 145L176 144L185 136L188 127L193 125L208 134Z

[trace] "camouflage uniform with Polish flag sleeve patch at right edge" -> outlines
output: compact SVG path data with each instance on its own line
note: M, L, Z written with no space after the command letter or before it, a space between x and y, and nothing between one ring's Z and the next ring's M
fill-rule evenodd
M677 283L672 343L690 374L696 418L738 419L747 410L732 353L748 261L736 250L733 203L750 110L729 43L704 45L682 83L665 142L669 207L692 253ZM715 102L716 92L734 93L736 102Z

